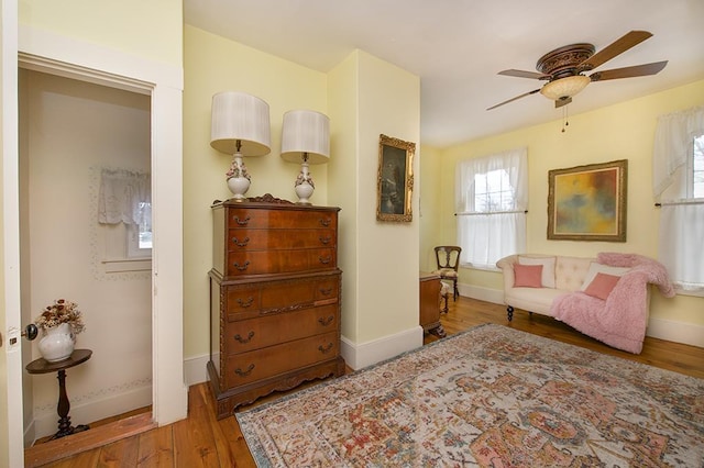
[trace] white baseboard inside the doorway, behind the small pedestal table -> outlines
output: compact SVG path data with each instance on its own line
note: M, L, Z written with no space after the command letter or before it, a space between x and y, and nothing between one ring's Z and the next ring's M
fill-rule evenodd
M73 426L100 421L117 414L127 413L136 408L152 404L152 385L133 388L129 391L113 394L100 400L86 401L85 403L70 404L69 417ZM58 415L56 411L43 412L34 415L33 438L41 438L55 434L58 431ZM32 443L34 441L31 441Z

